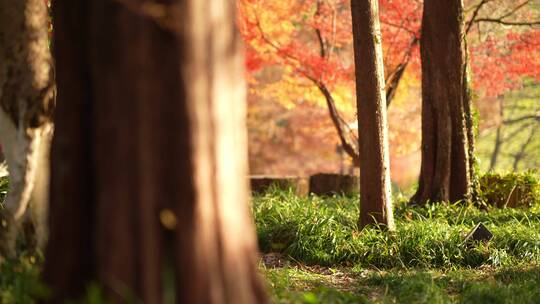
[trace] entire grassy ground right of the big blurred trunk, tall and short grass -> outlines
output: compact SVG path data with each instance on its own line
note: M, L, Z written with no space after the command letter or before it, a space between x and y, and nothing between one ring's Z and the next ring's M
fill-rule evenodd
M356 230L358 199L254 199L276 303L540 303L540 204L396 206L397 231ZM463 244L478 222L494 238Z

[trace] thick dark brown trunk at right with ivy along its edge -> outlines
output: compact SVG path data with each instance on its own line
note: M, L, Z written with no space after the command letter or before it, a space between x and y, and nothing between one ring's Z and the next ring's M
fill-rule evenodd
M470 198L472 118L462 20L461 0L424 2L422 165L412 198L418 204Z

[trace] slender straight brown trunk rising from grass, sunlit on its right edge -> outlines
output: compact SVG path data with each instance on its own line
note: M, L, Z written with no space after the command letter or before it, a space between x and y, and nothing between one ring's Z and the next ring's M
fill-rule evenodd
M377 0L351 3L360 154L360 228L394 229L381 31Z

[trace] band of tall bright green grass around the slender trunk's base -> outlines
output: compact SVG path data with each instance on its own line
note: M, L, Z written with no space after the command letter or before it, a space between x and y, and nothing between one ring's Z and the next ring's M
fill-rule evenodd
M492 209L398 204L395 233L357 231L358 199L300 198L274 191L253 202L259 246L305 264L360 265L379 269L505 266L540 261L540 204ZM495 235L488 244L462 245L483 222Z

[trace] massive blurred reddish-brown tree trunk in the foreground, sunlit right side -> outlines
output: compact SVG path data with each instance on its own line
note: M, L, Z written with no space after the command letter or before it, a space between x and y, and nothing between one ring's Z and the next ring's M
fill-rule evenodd
M234 2L56 0L50 303L265 303ZM164 273L169 273L167 278ZM166 282L167 281L167 282Z

